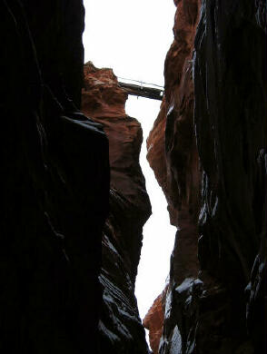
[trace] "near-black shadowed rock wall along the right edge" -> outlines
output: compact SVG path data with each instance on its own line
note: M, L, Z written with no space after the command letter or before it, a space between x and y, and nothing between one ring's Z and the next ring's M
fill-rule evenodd
M227 291L234 353L266 352L266 21L260 1L204 1L195 40L199 259Z

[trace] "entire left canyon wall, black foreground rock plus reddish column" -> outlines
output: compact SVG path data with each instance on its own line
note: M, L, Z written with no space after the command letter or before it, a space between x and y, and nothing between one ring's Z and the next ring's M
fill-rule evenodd
M0 17L0 349L145 354L141 125L112 71L84 66L82 1L1 1Z

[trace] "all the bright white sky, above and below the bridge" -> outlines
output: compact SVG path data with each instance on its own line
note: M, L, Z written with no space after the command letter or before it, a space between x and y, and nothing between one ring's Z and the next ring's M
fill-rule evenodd
M114 74L163 85L163 64L173 42L173 0L84 0L84 61L111 67ZM126 113L143 127L143 142L153 127L160 101L129 96ZM141 166L153 215L143 228L143 249L135 295L143 319L162 292L169 273L175 228L169 223L167 203L146 162L143 143Z

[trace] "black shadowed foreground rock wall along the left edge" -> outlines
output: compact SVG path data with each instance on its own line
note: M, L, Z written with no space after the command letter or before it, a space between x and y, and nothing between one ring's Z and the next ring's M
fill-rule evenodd
M107 139L80 113L82 1L0 1L3 353L94 353Z

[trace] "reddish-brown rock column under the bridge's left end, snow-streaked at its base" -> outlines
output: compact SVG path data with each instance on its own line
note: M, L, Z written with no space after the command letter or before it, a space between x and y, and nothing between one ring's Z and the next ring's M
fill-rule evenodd
M104 228L100 277L104 289L100 351L142 354L148 349L134 282L151 205L139 165L142 129L125 114L126 98L111 69L97 69L90 62L84 65L83 111L103 124L111 166L110 214Z

